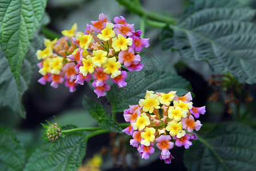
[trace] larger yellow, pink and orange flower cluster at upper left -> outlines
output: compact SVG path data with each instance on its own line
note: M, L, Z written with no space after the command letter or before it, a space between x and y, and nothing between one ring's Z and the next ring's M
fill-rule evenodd
M45 39L45 50L37 51L41 84L51 82L57 88L65 80L70 92L75 91L77 84L83 85L93 78L94 92L105 96L111 79L118 87L125 87L127 72L140 71L143 68L140 52L149 47L149 39L140 38L141 30L135 31L122 16L115 17L114 23L108 21L102 13L98 21L91 21L85 32L77 31L74 24L70 30L62 31L60 39Z

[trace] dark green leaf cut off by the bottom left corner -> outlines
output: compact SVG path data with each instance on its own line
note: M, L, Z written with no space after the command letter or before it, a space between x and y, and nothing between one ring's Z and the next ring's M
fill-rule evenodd
M0 170L22 170L25 149L16 140L13 129L0 127Z

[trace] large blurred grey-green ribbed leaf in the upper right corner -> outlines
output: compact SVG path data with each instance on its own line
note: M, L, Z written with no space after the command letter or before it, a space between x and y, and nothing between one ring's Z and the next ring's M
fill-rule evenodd
M206 60L219 74L231 72L241 83L256 83L255 10L238 1L197 0L177 25L163 28L183 58ZM166 48L163 46L163 48ZM169 47L171 48L171 46Z

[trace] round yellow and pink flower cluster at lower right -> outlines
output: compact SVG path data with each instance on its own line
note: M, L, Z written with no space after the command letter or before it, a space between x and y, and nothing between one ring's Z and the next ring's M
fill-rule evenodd
M160 159L167 164L174 158L170 149L184 146L188 149L197 136L202 124L199 114L205 114L204 107L193 107L191 93L179 97L176 91L154 93L147 91L139 105L130 105L123 113L130 126L123 130L133 136L130 145L137 147L142 158L148 159L155 152L154 145L162 150Z

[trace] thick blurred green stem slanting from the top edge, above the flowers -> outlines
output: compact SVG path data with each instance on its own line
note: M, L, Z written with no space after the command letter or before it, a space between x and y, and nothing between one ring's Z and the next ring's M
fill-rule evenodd
M133 13L138 14L141 17L146 16L146 18L152 19L153 21L159 21L163 23L174 24L176 22L176 19L174 19L171 16L149 13L148 11L143 9L141 6L137 5L137 3L134 3L132 1L127 1L127 0L117 0L117 1L119 2L119 4L125 6L126 9L130 10Z

